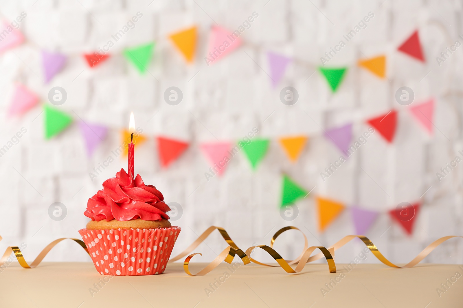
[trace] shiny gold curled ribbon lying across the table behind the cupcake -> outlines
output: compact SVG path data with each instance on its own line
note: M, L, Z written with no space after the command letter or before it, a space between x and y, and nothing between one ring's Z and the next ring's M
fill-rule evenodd
M219 230L220 235L224 238L225 242L228 243L228 247L225 248L211 263L209 263L205 268L197 272L196 274L193 274L189 271L189 262L193 258L194 255L199 254L199 253L194 253L190 254L195 248L197 248L201 242L203 242L209 235L214 230ZM278 254L275 249L273 249L273 244L275 243L275 240L278 236L280 236L283 232L288 231L288 230L298 230L302 233L304 236L304 248L302 249L301 254L294 260L284 260L280 254ZM307 241L307 236L298 228L293 227L293 226L288 226L284 227L282 229L279 229L276 231L276 233L272 236L272 239L270 240L270 246L267 245L258 245L258 246L251 246L244 252L242 249L238 247L238 245L233 242L232 238L228 235L227 231L221 227L216 227L216 226L211 226L206 229L188 248L186 248L183 252L178 254L177 256L173 257L172 259L169 260L169 262L174 262L176 260L180 260L183 257L187 256L183 263L183 269L185 272L190 275L190 276L203 276L206 275L208 272L211 272L214 268L216 268L222 261L225 261L227 263L232 263L235 255L238 255L240 259L243 261L244 264L249 264L250 262L263 265L263 266L280 266L282 269L288 273L297 273L302 271L302 269L306 266L307 263L313 262L315 260L319 260L323 257L325 257L327 263L328 263L328 268L331 273L336 272L336 264L334 262L333 256L334 252L338 250L339 248L343 247L346 245L348 242L353 240L354 238L359 238L362 240L362 242L368 247L368 249L375 255L375 257L380 260L383 264L390 266L390 267L396 267L396 268L410 268L415 265L417 265L419 262L421 262L428 254L430 254L435 248L437 248L440 244L443 242L453 238L453 237L463 237L463 236L444 236L439 238L438 240L432 242L429 244L425 249L423 249L413 260L411 260L409 263L407 263L404 266L397 266L394 263L390 262L386 257L382 255L382 253L376 248L375 244L371 242L366 236L356 236L356 235L350 235L350 236L344 236L341 240L336 242L334 245L332 245L329 248L325 248L323 246L312 246L308 247L308 241ZM5 263L5 261L8 259L8 257L11 255L11 253L14 253L16 259L19 262L19 265L21 265L24 268L34 268L42 262L44 257L50 252L50 250L56 246L57 243L63 241L63 240L73 240L74 242L78 243L88 254L88 249L85 246L85 243L82 242L81 240L75 239L75 238L69 238L69 237L64 237L64 238L59 238L50 244L48 244L35 258L35 260L32 261L31 265L28 265L27 262L24 260L23 254L19 247L17 246L10 246L6 248L5 253L0 259L0 266ZM0 241L2 240L2 237L0 236ZM277 264L266 264L259 262L257 260L254 260L250 258L250 254L255 248L261 248L265 252L267 252L276 262ZM315 249L319 249L321 252L319 254L311 256L313 251ZM201 254L200 254L201 255ZM296 265L295 269L291 267L291 265Z

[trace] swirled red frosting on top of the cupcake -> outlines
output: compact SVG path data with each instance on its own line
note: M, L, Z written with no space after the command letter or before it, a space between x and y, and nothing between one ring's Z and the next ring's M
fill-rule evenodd
M167 211L170 208L156 187L145 185L140 175L132 179L120 169L116 177L103 182L103 190L88 199L84 215L96 221L161 220L169 219Z

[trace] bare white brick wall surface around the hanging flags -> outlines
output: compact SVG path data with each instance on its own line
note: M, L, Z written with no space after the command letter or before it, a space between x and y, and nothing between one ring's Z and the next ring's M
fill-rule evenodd
M0 250L6 245L25 242L28 245L25 257L32 260L48 242L58 237L79 237L76 229L83 228L88 221L83 216L87 199L100 189L104 180L114 176L121 167L126 168L126 160L118 158L93 182L88 176L119 145L119 130L127 125L132 110L137 126L143 127L149 136L148 141L137 148L136 172L146 183L158 187L168 202L175 201L183 207L183 217L175 222L182 232L174 254L212 224L225 227L241 248L255 242L267 244L277 229L289 224L305 231L311 245L329 246L355 232L350 212L345 211L324 234L319 234L313 196L325 195L349 205L387 211L400 202L419 199L430 186L423 196L424 205L413 236L406 236L397 224L391 223L387 214L381 215L366 235L390 260L407 262L433 239L461 234L462 167L452 170L440 183L435 176L463 149L461 50L440 67L435 61L462 33L459 26L462 7L457 1L445 4L418 0L384 3L383 0L351 0L342 4L338 0L80 2L0 1L6 20L27 12L20 26L26 42L14 49L16 55L13 51L0 55L0 114L3 117L0 145L20 127L28 130L19 145L0 158L3 194L0 235L4 237ZM88 68L81 54L105 44L138 11L143 12L143 18L111 48L113 56L101 66ZM259 17L243 33L244 46L214 65L206 66L203 57L210 27L217 22L234 30L253 11L258 12ZM332 95L318 73L307 79L319 65L319 57L369 11L375 13L375 18L329 62L330 66L349 66L338 93ZM167 36L192 24L198 26L199 38L196 60L188 66ZM425 64L395 50L416 28L423 42ZM155 78L150 73L139 76L120 54L127 46L150 40L156 40L149 66ZM36 76L43 76L42 48L69 55L63 72L48 85ZM266 74L269 72L267 50L297 59L290 63L275 90L271 89ZM357 59L363 54L368 57L386 54L388 79L377 79L356 67ZM432 72L423 79L429 71ZM41 111L39 107L20 118L7 117L15 82L27 85L42 101L47 100L51 87L62 86L68 100L61 109L76 119L78 115L90 123L109 126L108 137L94 156L87 158L75 124L57 138L44 141L42 116L35 119ZM285 106L279 101L279 91L286 85L299 91L300 100L294 106ZM407 109L395 102L394 93L403 85L413 89L416 101L436 98L434 136L428 137ZM184 96L181 104L170 106L164 102L163 93L169 86L181 88ZM341 169L327 181L321 181L319 173L339 157L339 152L325 140L319 125L327 128L353 121L355 139L367 129L365 118L391 108L400 111L394 144L387 145L379 133L373 134ZM315 122L304 111L310 113ZM213 136L239 139L254 126L259 127L260 136L272 139L269 153L254 176L244 169L249 167L240 154L228 164L222 178L214 177L206 182L204 172L209 165L199 143L215 140ZM276 140L285 134L300 133L310 138L299 162L292 165ZM153 136L160 134L191 141L188 151L168 170L161 169L157 161ZM284 221L278 211L283 172L309 190L316 186L310 198L298 203L299 217L290 223ZM67 217L59 222L48 216L48 207L56 201L68 209ZM275 247L286 258L292 258L299 254L300 241L299 235L289 233L283 235ZM210 248L206 245L198 248L204 254L199 260L212 260L225 248L225 242L217 235L206 243ZM339 251L336 260L349 262L361 249L359 245L352 243ZM427 261L462 262L461 241L452 240L442 248ZM72 242L59 244L53 252L46 260L90 260ZM376 260L369 257L367 262Z

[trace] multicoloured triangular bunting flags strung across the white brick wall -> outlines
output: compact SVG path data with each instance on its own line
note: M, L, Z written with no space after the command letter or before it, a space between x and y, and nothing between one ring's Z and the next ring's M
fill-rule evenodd
M6 25L5 25L6 26ZM3 29L0 29L0 32ZM169 36L170 41L185 59L187 63L194 62L197 28L196 26L188 29L180 30ZM19 30L13 30L4 40L0 42L0 53L14 48L24 42L24 36ZM211 28L210 42L208 54L206 55L206 64L211 65L215 61L225 57L236 48L240 47L243 41L239 36L233 36L228 30L220 26ZM150 64L152 54L155 49L155 42L147 42L142 45L125 48L123 55L125 59L133 66L140 74L147 71ZM414 31L398 48L398 51L407 54L408 56L425 62L421 43L419 41L418 30ZM92 54L83 54L88 66L103 65L110 57L110 54L101 54L94 52ZM288 64L293 60L282 54L277 54L269 51L267 53L270 70L271 86L275 88L283 78ZM67 56L57 52L42 51L42 64L44 67L44 82L48 83L63 70L66 66ZM370 59L358 60L357 65L365 70L368 70L373 75L380 79L386 78L386 56L378 55ZM317 68L319 73L326 79L326 82L332 93L338 91L342 84L345 75L348 72L348 67L324 67ZM11 104L8 110L9 115L23 115L29 109L39 103L39 97L30 91L25 85L17 84ZM51 139L63 132L73 122L73 117L66 112L50 106L43 105L44 109L44 138ZM431 98L422 103L415 103L409 109L411 115L419 122L419 124L432 134L432 119L434 114L434 100ZM378 115L371 119L367 119L366 123L371 125L379 132L383 139L388 143L394 140L395 130L397 127L397 111L390 110L387 113ZM98 124L88 124L83 121L78 123L82 136L85 139L88 156L92 156L98 145L105 139L107 135L107 127ZM352 139L352 123L347 123L341 127L332 127L325 131L325 138L343 153L347 153L351 145ZM121 139L123 141L130 139L130 133L126 130L121 131ZM144 135L134 135L134 142L138 145L146 140ZM300 153L307 144L308 136L285 136L278 139L282 150L292 163L296 163ZM159 162L163 168L168 168L172 163L179 159L184 153L189 144L185 140L172 139L167 136L156 136L156 144L158 149ZM262 162L269 149L270 140L265 138L253 138L250 143L240 143L243 149L244 156L249 160L252 169L257 169ZM200 144L200 149L204 153L206 159L211 166L216 167L217 174L223 175L227 161L224 160L230 155L230 151L234 146L230 141L207 142ZM125 148L127 154L127 148ZM223 164L223 165L222 165ZM309 193L304 187L301 187L294 180L283 175L282 178L282 202L281 207L293 204L297 200L304 198ZM319 216L319 231L323 232L346 208L346 205L336 200L325 199L322 197L316 198L316 206ZM399 223L407 234L411 234L413 223L420 208L420 203L410 205L411 208L405 208L415 213L408 221L400 219L400 214L396 210L389 211L389 215L394 221ZM355 224L357 234L365 233L371 224L379 215L377 211L369 211L353 205L350 207L352 220Z

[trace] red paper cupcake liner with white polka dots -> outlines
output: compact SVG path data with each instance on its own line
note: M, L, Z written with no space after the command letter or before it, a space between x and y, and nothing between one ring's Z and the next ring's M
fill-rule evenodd
M100 274L141 276L164 272L180 228L81 229L79 233Z

